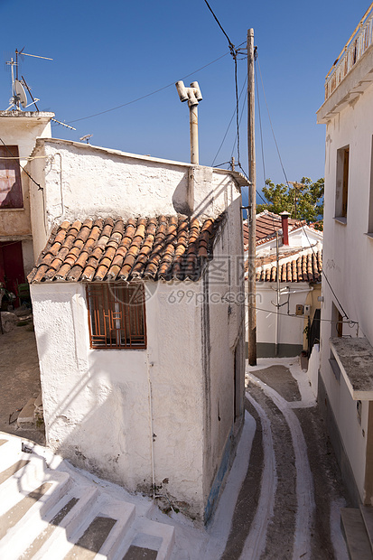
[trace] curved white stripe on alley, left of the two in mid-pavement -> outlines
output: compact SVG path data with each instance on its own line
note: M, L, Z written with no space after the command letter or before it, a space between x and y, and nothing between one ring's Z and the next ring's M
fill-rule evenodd
M274 515L275 489L277 476L275 470L275 451L272 440L271 423L262 406L256 403L249 393L247 400L256 409L262 422L264 466L260 489L260 498L256 508L256 515L250 527L245 546L240 558L248 560L260 558L266 548L266 530L270 519Z

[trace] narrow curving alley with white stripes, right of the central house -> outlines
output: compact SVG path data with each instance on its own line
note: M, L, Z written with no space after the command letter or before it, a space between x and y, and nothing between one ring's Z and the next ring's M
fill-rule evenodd
M221 559L347 559L347 493L299 359L259 359L246 378L254 434Z

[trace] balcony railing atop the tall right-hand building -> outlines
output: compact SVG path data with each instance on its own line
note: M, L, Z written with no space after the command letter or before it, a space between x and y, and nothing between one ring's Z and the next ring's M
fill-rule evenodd
M369 5L358 27L350 36L349 41L340 51L340 55L329 70L325 78L325 101L331 97L342 79L350 72L351 68L359 61L364 52L373 43L373 3Z

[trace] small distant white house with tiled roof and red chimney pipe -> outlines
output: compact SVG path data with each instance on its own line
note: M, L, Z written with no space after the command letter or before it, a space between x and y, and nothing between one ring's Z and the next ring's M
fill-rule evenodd
M244 242L247 245L247 224L244 224ZM316 327L318 331L320 326L321 271L321 231L289 219L285 213L279 216L265 210L256 215L258 358L299 356L303 350L307 353L312 350L312 343L318 338L313 330Z

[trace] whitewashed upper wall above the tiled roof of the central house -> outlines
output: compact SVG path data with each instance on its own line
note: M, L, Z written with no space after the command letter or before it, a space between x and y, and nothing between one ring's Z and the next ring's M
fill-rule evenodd
M228 208L228 172L148 156L41 139L33 152L33 175L45 187L34 192L33 231L39 251L52 226L63 219L159 216L185 213L193 192L193 215ZM42 163L42 161L46 163ZM44 197L44 201L42 201ZM45 208L46 230L41 209Z

